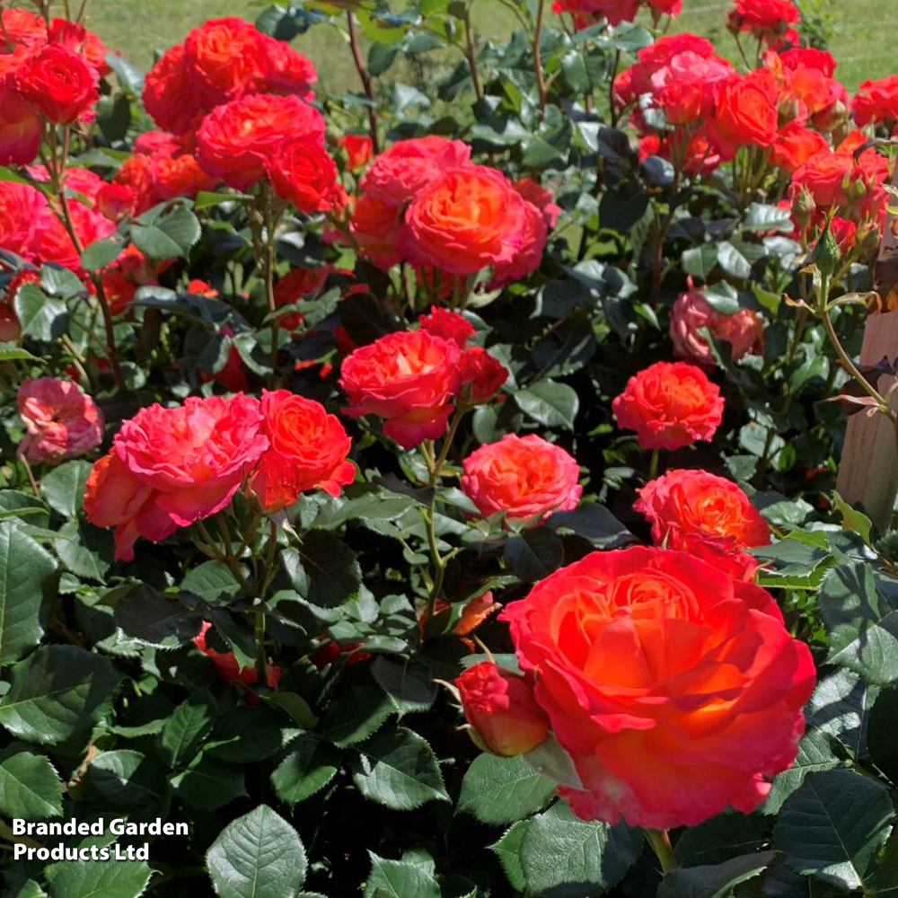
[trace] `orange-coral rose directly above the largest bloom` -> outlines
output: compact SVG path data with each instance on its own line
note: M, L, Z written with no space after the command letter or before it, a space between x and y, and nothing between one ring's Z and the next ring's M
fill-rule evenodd
M682 549L691 534L721 537L735 547L765 546L770 527L732 480L708 471L667 471L638 490L633 507L652 524L652 539Z

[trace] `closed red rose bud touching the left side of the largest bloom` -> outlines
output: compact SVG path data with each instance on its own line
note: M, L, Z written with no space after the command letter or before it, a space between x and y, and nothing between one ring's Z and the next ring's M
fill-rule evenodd
M487 751L504 757L524 754L549 735L549 718L536 704L533 687L524 677L483 661L469 667L455 686L474 741Z

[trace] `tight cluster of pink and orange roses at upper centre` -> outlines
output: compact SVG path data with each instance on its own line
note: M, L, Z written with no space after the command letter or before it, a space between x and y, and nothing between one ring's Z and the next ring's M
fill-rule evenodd
M375 265L407 261L425 286L449 295L459 277L491 268L506 286L539 268L560 209L533 180L515 183L471 163L460 140L401 140L375 157L359 183L349 239ZM441 275L445 273L453 277Z

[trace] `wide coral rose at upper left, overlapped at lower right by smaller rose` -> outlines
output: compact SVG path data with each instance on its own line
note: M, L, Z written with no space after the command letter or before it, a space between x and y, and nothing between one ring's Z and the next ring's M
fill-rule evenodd
M197 132L197 158L211 175L237 190L265 176L281 145L299 138L323 143L321 113L295 96L260 93L212 110Z

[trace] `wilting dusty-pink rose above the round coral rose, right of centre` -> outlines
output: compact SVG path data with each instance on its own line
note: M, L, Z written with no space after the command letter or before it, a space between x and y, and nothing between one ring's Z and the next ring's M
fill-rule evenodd
M688 293L680 294L671 313L674 355L713 367L716 363L711 347L700 333L705 329L715 339L729 343L734 361L763 352L763 330L755 313L749 309L740 309L734 315L716 312L701 291L690 285Z

